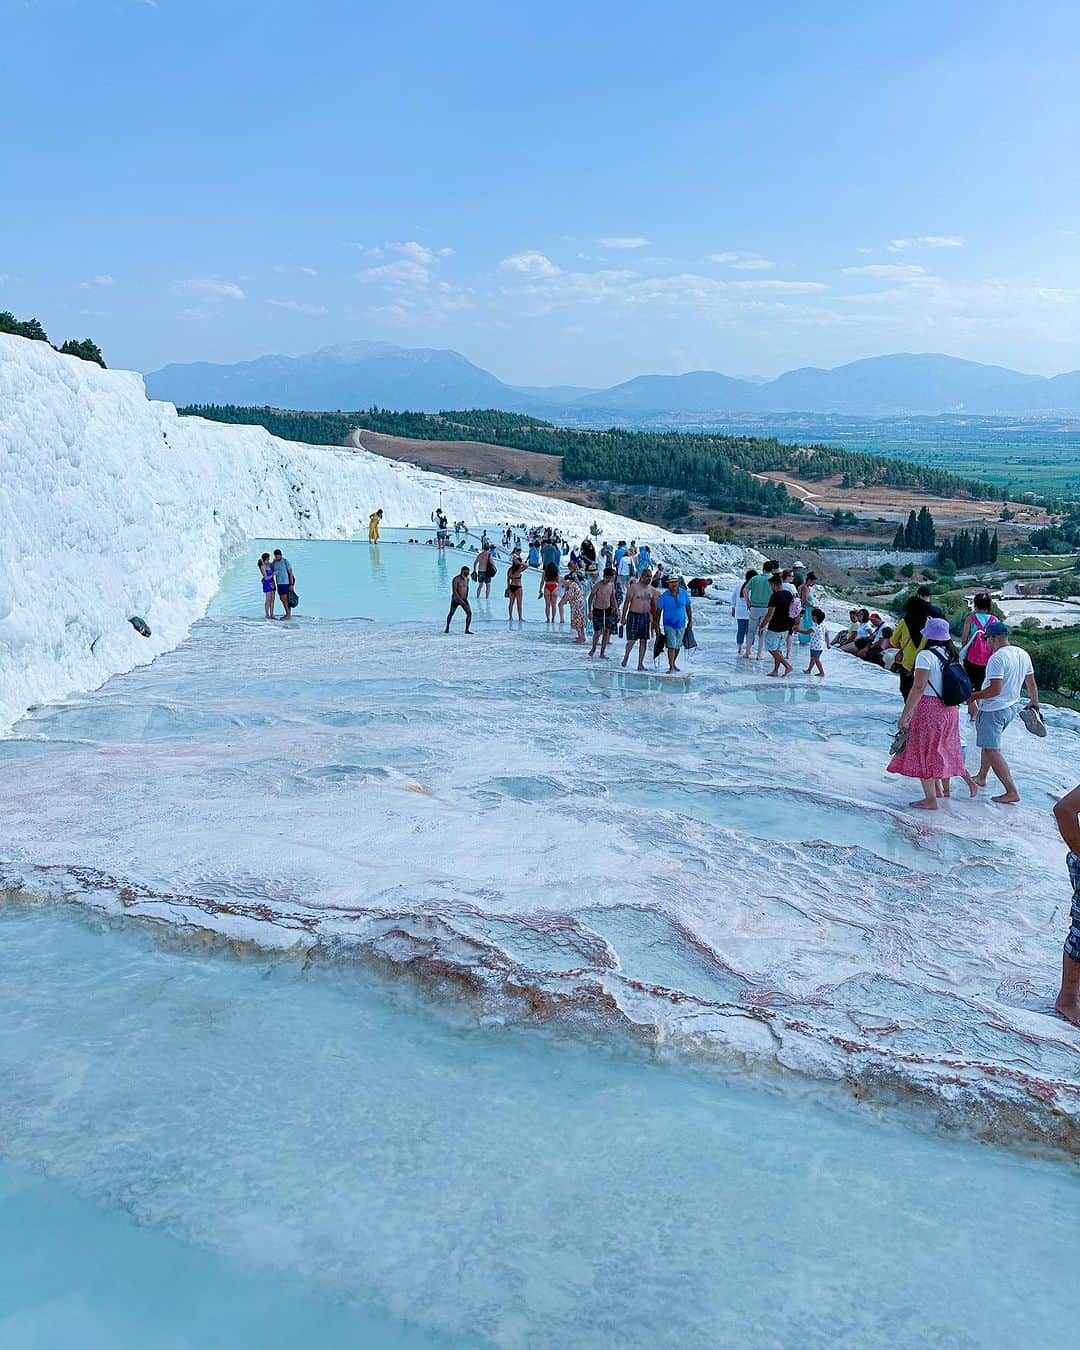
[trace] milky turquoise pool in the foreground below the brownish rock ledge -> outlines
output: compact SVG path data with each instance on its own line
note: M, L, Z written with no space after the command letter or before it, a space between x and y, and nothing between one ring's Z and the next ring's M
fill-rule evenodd
M50 1177L4 1173L5 1346L1054 1346L1080 1311L1061 1166L362 969L66 907L0 942L4 1149Z

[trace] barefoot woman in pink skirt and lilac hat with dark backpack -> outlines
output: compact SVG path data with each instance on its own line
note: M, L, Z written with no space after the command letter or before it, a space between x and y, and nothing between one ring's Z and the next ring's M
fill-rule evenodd
M972 796L979 786L964 768L960 709L941 701L942 666L957 659L948 620L927 620L922 636L926 647L915 657L915 679L899 720L910 736L900 753L892 756L888 772L919 779L922 801L911 806L936 811L940 779L948 784L950 778L963 778Z

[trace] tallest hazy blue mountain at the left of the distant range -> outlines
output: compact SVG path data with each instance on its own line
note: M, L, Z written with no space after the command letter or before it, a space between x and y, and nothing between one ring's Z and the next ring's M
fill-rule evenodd
M234 366L165 366L146 377L146 389L151 398L173 404L270 404L309 412L373 405L428 413L443 408L531 412L540 402L456 351L373 342Z

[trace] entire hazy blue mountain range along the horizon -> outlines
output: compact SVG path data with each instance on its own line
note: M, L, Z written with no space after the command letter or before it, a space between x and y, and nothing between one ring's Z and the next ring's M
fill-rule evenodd
M860 417L971 413L1080 416L1080 370L1026 375L1004 366L936 354L871 356L833 370L805 366L776 379L736 379L713 370L637 375L610 389L508 385L456 351L354 342L304 356L236 364L165 366L146 377L151 398L184 404L269 404L312 412L392 408L498 408L505 412L605 414L634 421L702 413L841 413Z

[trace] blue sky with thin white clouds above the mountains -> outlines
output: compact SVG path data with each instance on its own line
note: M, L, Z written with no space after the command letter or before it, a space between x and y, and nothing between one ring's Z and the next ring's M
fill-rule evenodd
M0 309L111 366L1080 367L1073 3L0 12Z

